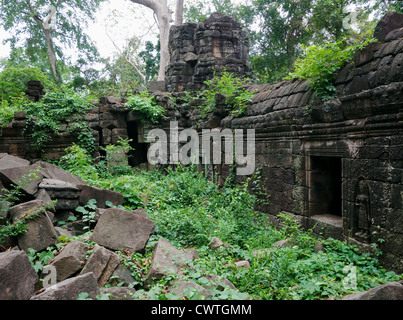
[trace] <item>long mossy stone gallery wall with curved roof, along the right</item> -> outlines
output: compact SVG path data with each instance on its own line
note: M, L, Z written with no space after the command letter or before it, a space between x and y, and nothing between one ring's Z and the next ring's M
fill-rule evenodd
M389 30L391 21L394 27ZM261 211L275 223L280 212L289 213L305 228L348 240L364 251L372 251L371 244L378 243L385 266L402 272L402 21L401 15L388 14L379 23L382 42L357 52L339 72L336 99L322 102L307 81L295 79L250 86L257 94L243 117L232 118L218 105L201 122L192 104L176 107L165 102L167 119L178 121L179 129L199 132L255 129L256 168L270 196L269 204L260 205ZM171 42L185 30L191 30L184 46L189 48L193 25L174 29ZM183 50L186 55L187 49ZM174 66L175 62L170 68ZM169 81L167 88L175 90L176 97L193 88L191 81L189 86L171 87ZM169 131L167 121L160 127ZM219 174L221 182L229 175L228 165L203 169L211 176Z

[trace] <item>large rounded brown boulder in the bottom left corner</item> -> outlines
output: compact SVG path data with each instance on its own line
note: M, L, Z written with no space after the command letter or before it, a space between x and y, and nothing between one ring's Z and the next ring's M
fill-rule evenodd
M0 300L28 300L38 275L24 251L0 253Z

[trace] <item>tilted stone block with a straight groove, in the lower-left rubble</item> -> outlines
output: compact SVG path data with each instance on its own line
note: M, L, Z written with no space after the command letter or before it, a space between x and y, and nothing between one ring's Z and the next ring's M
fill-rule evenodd
M81 274L92 272L99 287L103 287L119 263L120 257L116 253L96 245Z

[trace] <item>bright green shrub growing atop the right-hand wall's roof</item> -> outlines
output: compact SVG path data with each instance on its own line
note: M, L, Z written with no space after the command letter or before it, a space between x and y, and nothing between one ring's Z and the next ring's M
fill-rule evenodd
M368 38L365 41L356 41L353 45L346 45L346 40L339 42L326 42L321 46L304 46L304 54L294 64L294 72L286 79L307 79L316 95L323 100L336 96L336 88L333 85L337 71L346 63L352 61L354 53L375 39Z

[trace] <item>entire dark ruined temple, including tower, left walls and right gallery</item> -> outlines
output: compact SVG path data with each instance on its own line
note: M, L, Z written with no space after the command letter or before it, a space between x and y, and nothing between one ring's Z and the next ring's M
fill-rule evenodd
M174 104L184 91L203 89L214 68L225 67L240 76L251 76L249 40L233 18L212 15L199 24L172 27L171 62L165 84L154 92L166 109L156 125L143 124L124 101L104 97L87 115L98 146L118 137L133 139L133 166L147 167L147 132L155 127L255 129L256 168L260 170L270 203L260 205L275 223L279 212L297 218L336 239L347 240L364 251L378 243L381 261L403 271L403 17L388 14L378 24L379 42L356 52L335 81L337 99L316 98L309 83L294 79L252 85L251 105L242 117L230 117L224 106L200 121L192 103ZM309 109L310 112L306 112ZM39 155L23 135L25 115L1 128L0 152L31 161ZM45 149L48 159L59 158L75 141L71 135L54 136ZM222 183L230 166L200 165ZM379 239L384 241L380 242Z

